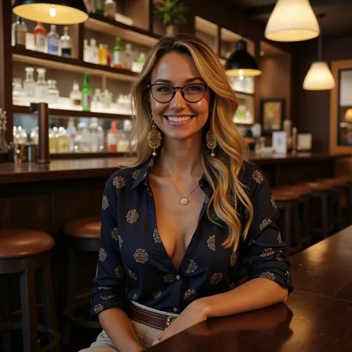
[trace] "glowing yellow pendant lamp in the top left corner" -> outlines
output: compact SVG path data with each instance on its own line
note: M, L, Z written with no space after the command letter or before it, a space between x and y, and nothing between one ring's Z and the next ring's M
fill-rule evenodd
M88 19L82 0L15 0L12 11L27 20L53 25L73 25Z

